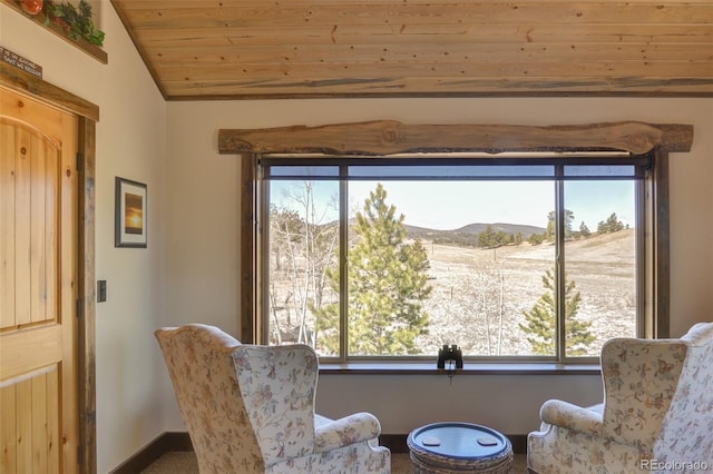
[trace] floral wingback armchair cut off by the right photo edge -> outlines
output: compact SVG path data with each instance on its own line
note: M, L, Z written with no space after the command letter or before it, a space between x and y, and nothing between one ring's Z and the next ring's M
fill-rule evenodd
M602 405L543 405L540 431L528 435L530 472L713 470L713 323L680 339L612 339L602 376Z

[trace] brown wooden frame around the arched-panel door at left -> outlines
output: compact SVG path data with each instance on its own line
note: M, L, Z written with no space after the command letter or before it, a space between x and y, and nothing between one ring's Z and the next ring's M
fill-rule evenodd
M0 63L0 86L78 118L77 393L78 472L97 472L95 349L95 161L99 107L11 66Z

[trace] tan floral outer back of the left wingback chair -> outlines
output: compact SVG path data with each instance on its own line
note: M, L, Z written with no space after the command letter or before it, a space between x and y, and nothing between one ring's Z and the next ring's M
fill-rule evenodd
M235 338L207 325L155 332L202 474L264 472L233 365Z

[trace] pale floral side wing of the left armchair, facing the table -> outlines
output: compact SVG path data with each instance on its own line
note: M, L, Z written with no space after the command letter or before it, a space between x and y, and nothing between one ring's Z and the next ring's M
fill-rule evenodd
M265 465L314 453L314 350L302 344L242 345L233 358Z

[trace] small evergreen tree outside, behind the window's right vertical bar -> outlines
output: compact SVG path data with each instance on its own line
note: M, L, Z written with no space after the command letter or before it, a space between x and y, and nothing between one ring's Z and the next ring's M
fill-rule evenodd
M554 268L545 271L543 286L546 292L531 309L522 313L526 324L519 324L520 329L527 334L533 352L540 355L555 354L557 305L554 273ZM589 332L592 323L577 320L580 299L582 294L575 292L575 283L565 282L565 333L568 356L586 354L589 344L595 339Z

